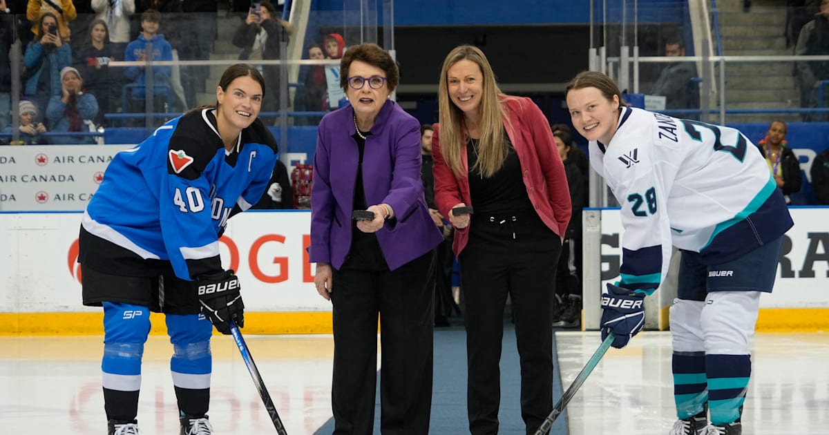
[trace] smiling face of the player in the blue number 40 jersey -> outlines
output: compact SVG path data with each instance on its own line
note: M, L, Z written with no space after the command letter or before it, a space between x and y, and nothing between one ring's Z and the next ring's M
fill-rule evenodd
M216 101L219 108L216 118L224 119L234 128L242 129L250 126L262 109L262 87L250 75L236 77L227 85L216 88Z

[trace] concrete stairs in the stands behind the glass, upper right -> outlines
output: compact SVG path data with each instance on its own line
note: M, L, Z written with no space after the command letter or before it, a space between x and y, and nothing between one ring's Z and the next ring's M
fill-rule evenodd
M720 37L725 56L791 56L786 47L786 9L778 0L717 0ZM793 62L731 62L725 64L727 109L792 109L800 106ZM719 78L717 78L719 80ZM718 102L717 102L718 103ZM800 121L800 114L727 114L726 123Z

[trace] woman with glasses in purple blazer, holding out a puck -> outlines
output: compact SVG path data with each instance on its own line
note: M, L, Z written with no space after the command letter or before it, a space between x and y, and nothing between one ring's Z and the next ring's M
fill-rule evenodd
M433 249L443 241L420 181L420 125L391 101L400 81L381 47L340 62L351 103L319 124L311 188L314 284L333 305L334 433L371 434L381 325L381 430L429 433ZM354 220L355 210L368 211Z

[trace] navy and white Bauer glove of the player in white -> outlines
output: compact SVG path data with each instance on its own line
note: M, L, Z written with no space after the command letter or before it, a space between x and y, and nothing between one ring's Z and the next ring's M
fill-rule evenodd
M621 349L645 325L645 295L608 283L602 294L602 340L613 331L613 346Z

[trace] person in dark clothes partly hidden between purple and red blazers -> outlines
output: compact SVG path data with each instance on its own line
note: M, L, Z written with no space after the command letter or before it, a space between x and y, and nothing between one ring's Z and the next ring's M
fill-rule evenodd
M434 133L434 129L431 125L423 124L420 126L420 157L422 159L420 180L423 181L423 193L426 198L426 205L429 207L429 215L432 216L434 225L437 225L438 230L444 235L444 242L435 249L434 274L429 287L434 286L434 326L449 326L448 319L452 316L452 312L460 313L460 308L455 303L452 294L452 266L454 263L452 242L454 240L454 230L452 225L449 225L449 221L444 218L444 215L440 214L438 206L434 205L432 133Z

